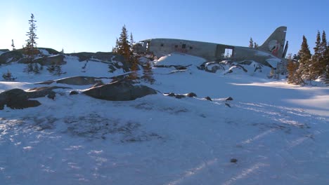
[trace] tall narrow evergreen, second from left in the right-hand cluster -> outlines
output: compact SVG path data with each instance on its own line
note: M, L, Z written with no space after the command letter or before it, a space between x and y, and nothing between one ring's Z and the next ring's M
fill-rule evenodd
M321 49L321 36L320 32L316 34L316 46L314 47L314 55L309 64L309 80L315 80L318 76L321 75L323 69L321 69L321 60L322 60L322 49Z

